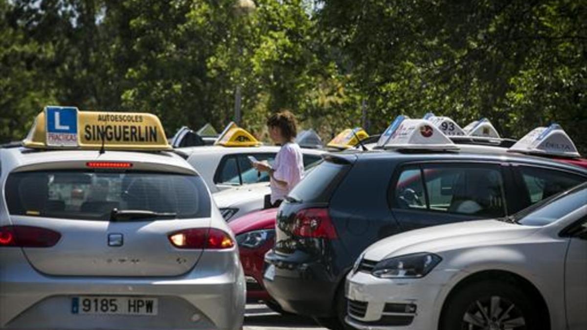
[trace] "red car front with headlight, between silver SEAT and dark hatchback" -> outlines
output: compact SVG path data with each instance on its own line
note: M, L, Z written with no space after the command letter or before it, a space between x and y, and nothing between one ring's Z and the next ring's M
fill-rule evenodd
M277 208L255 211L228 223L237 236L242 268L247 279L247 301L263 301L276 312L281 307L265 291L263 272L265 252L275 243L275 218Z

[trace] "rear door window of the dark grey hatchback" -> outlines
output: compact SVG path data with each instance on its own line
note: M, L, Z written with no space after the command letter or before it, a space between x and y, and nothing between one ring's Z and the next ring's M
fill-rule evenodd
M424 166L430 210L486 217L505 215L497 166Z

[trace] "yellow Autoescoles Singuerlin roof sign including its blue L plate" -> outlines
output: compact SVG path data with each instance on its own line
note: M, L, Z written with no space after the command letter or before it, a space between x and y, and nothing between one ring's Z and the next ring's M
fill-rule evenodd
M168 150L158 117L150 113L87 112L47 106L23 141L42 149Z

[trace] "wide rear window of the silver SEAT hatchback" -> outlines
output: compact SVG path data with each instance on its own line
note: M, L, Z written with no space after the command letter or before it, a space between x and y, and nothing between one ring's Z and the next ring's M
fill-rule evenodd
M175 213L173 218L210 216L204 181L174 173L18 172L8 176L5 196L11 215L107 221L117 208Z

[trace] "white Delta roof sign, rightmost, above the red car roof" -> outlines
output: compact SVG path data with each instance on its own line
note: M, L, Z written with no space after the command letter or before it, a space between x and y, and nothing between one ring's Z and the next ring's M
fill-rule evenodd
M548 154L562 157L581 157L575 144L559 124L537 127L515 143L511 151Z

